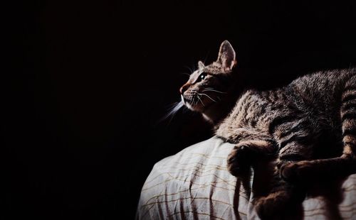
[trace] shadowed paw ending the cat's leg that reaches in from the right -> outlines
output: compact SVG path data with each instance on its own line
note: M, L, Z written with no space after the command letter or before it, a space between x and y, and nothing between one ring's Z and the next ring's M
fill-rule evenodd
M300 161L297 163L288 163L280 168L280 175L283 180L288 182L296 182L308 177L310 164L308 161Z

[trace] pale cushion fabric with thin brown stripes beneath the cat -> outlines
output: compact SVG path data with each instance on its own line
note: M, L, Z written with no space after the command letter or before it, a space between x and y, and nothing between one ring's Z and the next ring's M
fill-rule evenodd
M142 187L136 219L259 219L253 194L226 170L233 147L213 137L156 163ZM342 194L334 205L338 215L356 219L356 175L342 183ZM335 217L323 197L307 197L303 211L303 219Z

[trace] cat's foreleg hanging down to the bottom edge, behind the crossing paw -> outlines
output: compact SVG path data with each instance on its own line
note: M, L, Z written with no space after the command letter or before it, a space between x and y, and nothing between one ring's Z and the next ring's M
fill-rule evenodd
M266 197L256 198L256 211L261 219L283 219L281 215L286 210L290 211L303 202L305 190L283 180L279 170L283 165L310 159L313 152L313 138L310 134L306 130L305 132L300 130L290 133L290 136L281 136L283 138L278 140L281 150L279 150L279 157L275 163L271 182L269 182L270 189Z

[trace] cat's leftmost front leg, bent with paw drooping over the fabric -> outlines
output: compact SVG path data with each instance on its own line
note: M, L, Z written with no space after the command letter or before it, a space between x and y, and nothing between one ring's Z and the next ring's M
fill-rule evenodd
M269 141L241 141L235 145L227 159L229 172L234 176L246 174L256 159L276 155L276 147Z

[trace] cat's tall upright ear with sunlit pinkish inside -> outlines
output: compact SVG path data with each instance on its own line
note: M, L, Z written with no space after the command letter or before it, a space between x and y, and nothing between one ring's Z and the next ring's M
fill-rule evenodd
M220 45L219 57L217 62L221 63L221 67L225 71L230 71L236 65L236 53L229 41L224 40Z

